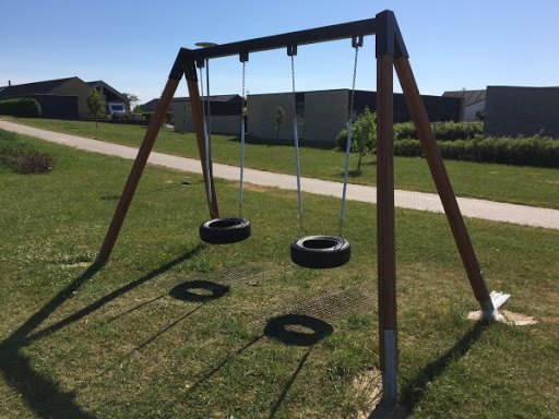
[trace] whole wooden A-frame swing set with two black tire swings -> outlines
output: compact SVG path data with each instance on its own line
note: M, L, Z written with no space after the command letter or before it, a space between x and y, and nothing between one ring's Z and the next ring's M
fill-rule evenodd
M163 91L157 109L151 120L138 156L134 160L111 224L97 256L97 263L105 264L112 252L128 208L144 170L147 157L156 140L159 127L173 100L182 76L186 76L192 119L197 133L202 173L205 184L210 220L200 226L202 241L213 244L239 242L250 237L250 222L242 217L243 166L245 166L245 74L249 53L286 48L292 61L292 83L294 94L294 145L297 168L297 194L299 226L302 231L302 197L300 188L299 144L297 112L295 111L295 56L297 46L337 39L352 39L355 48L355 65L350 91L348 140L345 154L345 176L343 183L340 229L344 224L347 168L353 134L353 101L357 69L357 55L365 36L376 36L377 59L377 243L378 243L378 310L379 310L379 352L382 372L383 402L395 404L397 399L397 323L396 323L396 263L395 263L395 219L394 219L394 148L393 148L393 70L404 93L407 108L415 123L424 154L426 156L437 191L444 207L454 241L464 264L469 284L481 313L486 320L496 320L498 309L508 296L489 292L474 248L452 190L449 176L429 123L425 105L419 95L408 53L392 11L385 10L374 19L343 23L282 35L255 38L223 45L210 45L199 49L181 48L173 65L169 79ZM219 217L215 193L211 157L211 134L209 130L210 81L207 63L210 59L238 56L242 63L242 111L240 116L240 180L239 216ZM197 69L203 93L202 69L206 67L206 105L200 97ZM374 104L371 104L374 105ZM295 240L290 246L294 263L310 268L342 266L349 261L350 246L341 236L308 236Z

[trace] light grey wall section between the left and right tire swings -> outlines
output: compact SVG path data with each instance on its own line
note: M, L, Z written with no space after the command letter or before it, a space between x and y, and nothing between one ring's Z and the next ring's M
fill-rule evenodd
M285 120L280 127L275 123L276 107L285 110ZM247 132L269 143L286 143L293 141L294 98L293 93L249 95L247 97ZM305 128L299 125L299 136L305 136Z

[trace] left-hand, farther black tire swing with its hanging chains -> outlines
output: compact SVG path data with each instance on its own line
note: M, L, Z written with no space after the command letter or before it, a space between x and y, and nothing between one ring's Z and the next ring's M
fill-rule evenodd
M238 217L225 217L225 218L213 218L205 223L203 223L199 228L200 239L209 244L229 244L237 243L239 241L246 240L250 237L251 227L250 222L242 217L242 177L245 171L245 109L246 109L246 99L245 99L245 67L248 61L248 53L243 53L240 56L240 61L242 62L242 104L241 104L241 116L240 116L240 179L239 179L239 216ZM204 83L202 75L202 68L204 67L204 62L200 61L198 63L200 69L200 84L201 84L201 94L202 94L202 116L203 116L203 127L204 127L204 140L205 140L205 169L207 172L206 176L206 191L210 206L212 205L212 172L211 172L211 161L212 161L212 146L211 146L211 110L210 110L210 72L209 65L206 65L206 84L207 84L207 94L206 94L206 106L207 109L207 123L206 123L206 110L204 109Z

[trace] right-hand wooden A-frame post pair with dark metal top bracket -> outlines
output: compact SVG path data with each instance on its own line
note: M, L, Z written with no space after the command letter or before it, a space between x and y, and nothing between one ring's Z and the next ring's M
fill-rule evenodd
M485 313L495 311L474 248L452 190L444 163L415 82L394 13L377 14L377 242L379 352L383 402L397 399L397 308L394 220L393 69L450 224L474 295Z

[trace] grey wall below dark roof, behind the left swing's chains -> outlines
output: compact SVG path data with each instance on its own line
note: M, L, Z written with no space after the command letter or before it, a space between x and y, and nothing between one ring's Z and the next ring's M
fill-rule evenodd
M175 132L194 131L190 100L174 100L170 104L170 110L175 118ZM239 135L240 112L239 115L213 115L211 123L214 134Z

